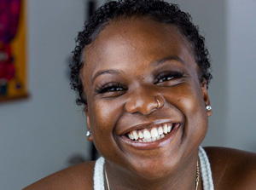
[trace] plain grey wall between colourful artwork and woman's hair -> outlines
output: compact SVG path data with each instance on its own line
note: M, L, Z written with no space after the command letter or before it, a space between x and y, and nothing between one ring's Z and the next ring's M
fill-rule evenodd
M61 170L74 153L88 156L85 118L67 76L84 11L84 0L28 1L31 97L0 105L0 189Z

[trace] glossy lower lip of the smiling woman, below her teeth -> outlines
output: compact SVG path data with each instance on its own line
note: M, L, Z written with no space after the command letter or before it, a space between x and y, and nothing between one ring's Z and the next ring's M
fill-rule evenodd
M129 147L133 147L138 150L151 150L151 149L156 149L160 147L166 147L167 144L173 141L173 139L177 135L177 131L182 128L183 125L181 123L178 123L178 124L179 124L178 126L172 129L171 133L167 134L164 138L158 141L151 141L151 142L131 141L131 139L129 139L125 135L120 135L120 139L121 141L124 141L125 144L128 144Z

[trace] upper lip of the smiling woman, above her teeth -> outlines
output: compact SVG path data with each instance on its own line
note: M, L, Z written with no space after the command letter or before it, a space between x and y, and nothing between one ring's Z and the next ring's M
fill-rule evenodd
M126 133L128 132L131 132L133 130L147 130L147 129L151 129L153 128L154 126L158 126L160 124L166 124L166 123L178 123L178 124L181 124L181 122L175 122L175 121L172 121L170 119L159 119L159 120L155 120L154 122L150 122L150 123L147 123L147 124L137 124L137 125L134 125L124 131L122 131L119 135L125 135Z

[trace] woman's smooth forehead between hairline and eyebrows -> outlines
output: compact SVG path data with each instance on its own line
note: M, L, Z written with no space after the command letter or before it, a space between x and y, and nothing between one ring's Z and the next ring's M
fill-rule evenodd
M169 55L183 57L189 63L195 62L191 45L177 26L147 17L111 21L84 53L84 72L88 77L112 66L115 69L131 63L139 66L138 63Z

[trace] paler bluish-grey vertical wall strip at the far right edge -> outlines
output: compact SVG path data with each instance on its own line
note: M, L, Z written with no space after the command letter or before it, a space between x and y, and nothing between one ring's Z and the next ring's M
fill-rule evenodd
M256 1L228 1L229 147L256 152Z

